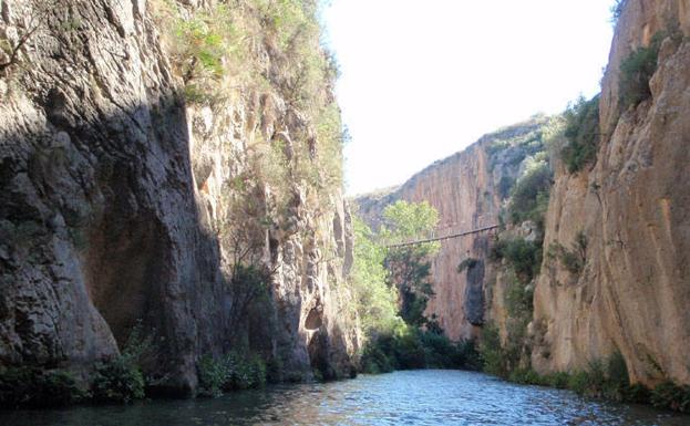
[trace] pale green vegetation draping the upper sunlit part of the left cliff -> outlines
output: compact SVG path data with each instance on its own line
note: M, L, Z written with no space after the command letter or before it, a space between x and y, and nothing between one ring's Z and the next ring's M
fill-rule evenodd
M272 129L249 135L246 167L229 186L248 185L248 194L234 197L240 204L258 197L256 187L268 186L272 208L264 216L279 227L295 183L307 184L309 201L323 205L342 186L346 134L332 96L338 70L320 43L318 8L303 0L203 8L152 1L158 27L167 30L163 39L186 102L212 110L244 103L254 123L248 126Z

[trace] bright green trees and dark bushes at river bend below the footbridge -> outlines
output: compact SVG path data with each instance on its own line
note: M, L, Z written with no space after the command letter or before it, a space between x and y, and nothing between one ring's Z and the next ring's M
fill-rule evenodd
M435 316L424 315L433 297L429 258L439 245L387 248L383 243L425 237L435 228L437 212L428 202L398 201L383 216L379 232L354 220L350 281L365 335L361 370L371 374L426 367L477 370L474 342L452 342Z

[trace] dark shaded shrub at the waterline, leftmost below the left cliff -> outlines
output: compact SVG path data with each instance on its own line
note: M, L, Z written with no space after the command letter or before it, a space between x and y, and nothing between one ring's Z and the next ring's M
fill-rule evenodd
M0 368L2 408L66 406L84 397L70 372L25 366Z

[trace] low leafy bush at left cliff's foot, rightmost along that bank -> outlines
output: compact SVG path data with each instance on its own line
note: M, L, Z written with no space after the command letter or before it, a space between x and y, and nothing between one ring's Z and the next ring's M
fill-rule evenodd
M257 354L248 356L230 352L220 359L204 355L197 364L199 395L216 397L223 391L264 387L268 368L264 359Z

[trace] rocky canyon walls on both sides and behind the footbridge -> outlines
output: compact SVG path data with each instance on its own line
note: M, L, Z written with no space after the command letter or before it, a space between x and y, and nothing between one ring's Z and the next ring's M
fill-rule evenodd
M632 383L690 384L688 0L621 3L580 169L559 156L563 117L535 115L352 200L316 2L288 3L0 3L0 367L86 383L141 329L161 395L196 394L199 363L237 349L277 382L351 377L367 340L353 216L377 229L406 200L437 210L437 235L497 227L431 259L426 314L453 341L495 326L508 342L518 285L521 366L620 353ZM655 43L649 96L624 103L627 59ZM553 184L543 222L516 221L514 189L537 167ZM539 247L526 284L496 258L509 238ZM558 250L578 241L571 268Z

